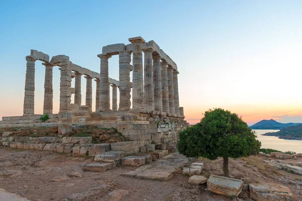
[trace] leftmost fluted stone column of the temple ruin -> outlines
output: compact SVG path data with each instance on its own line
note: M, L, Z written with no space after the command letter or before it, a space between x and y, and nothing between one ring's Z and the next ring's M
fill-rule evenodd
M35 113L35 61L36 59L26 57L25 94L23 115L33 115Z

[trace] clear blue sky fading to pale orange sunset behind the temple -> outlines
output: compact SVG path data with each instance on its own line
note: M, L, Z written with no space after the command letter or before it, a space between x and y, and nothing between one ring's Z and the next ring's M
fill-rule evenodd
M23 115L31 49L68 55L99 72L103 46L141 36L177 64L180 106L190 124L212 108L237 113L248 125L302 123L301 10L302 1L277 0L1 1L0 118ZM45 67L41 61L35 67L35 114L42 114ZM54 113L59 74L54 67ZM118 56L109 59L109 77L118 79ZM83 76L82 105L85 90Z

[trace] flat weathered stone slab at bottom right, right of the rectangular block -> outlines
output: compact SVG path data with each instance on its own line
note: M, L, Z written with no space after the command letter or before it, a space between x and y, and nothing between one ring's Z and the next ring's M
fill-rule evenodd
M277 183L250 183L250 195L257 201L293 201L290 189Z

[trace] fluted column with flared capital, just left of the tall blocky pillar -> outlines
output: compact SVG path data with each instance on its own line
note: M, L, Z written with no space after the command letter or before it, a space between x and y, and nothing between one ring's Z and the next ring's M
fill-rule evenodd
M101 59L100 70L100 110L110 110L110 90L109 77L108 77L108 59L111 57L108 54L99 54Z

